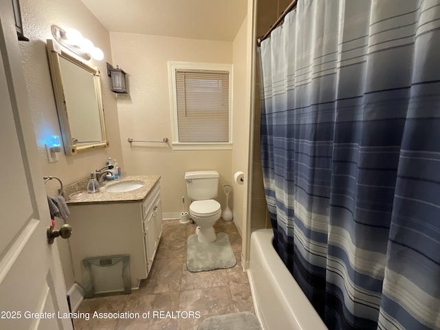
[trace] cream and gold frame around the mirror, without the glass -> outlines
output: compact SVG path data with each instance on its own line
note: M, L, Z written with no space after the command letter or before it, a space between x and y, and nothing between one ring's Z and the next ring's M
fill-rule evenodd
M81 151L87 151L93 148L107 148L109 141L107 140L107 131L105 127L104 107L102 105L102 93L100 82L100 71L97 67L92 67L87 63L83 63L74 56L67 54L61 49L61 46L52 39L47 39L47 57L49 58L50 76L52 77L52 86L54 87L54 96L56 102L56 112L58 113L58 122L60 123L61 136L63 137L64 152L67 156L78 154ZM74 144L72 142L72 132L70 131L69 115L67 104L65 102L63 79L61 78L60 57L71 61L87 72L94 75L96 86L96 97L98 98L98 111L100 113L101 123L101 141L85 142ZM72 110L71 110L72 111Z

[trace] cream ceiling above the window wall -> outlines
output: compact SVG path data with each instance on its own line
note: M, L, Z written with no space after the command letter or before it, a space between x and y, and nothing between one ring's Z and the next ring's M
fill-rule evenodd
M81 0L109 32L233 41L247 0Z

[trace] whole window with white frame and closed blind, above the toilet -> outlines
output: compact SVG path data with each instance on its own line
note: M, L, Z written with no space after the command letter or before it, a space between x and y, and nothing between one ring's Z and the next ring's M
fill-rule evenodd
M231 148L230 65L168 63L173 148Z

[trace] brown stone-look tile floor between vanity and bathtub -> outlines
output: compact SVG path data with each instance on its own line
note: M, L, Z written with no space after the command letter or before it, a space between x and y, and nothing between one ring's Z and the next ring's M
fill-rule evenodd
M195 224L164 221L162 238L148 278L132 294L83 300L77 312L129 311L165 313L155 318L76 319L76 330L197 329L205 318L239 311L252 311L248 276L241 267L241 236L233 221L219 219L215 231L228 234L236 256L228 270L191 273L186 270L186 239L195 233ZM174 312L168 314L166 312ZM177 317L177 312L199 312L199 318ZM157 314L156 314L157 315Z

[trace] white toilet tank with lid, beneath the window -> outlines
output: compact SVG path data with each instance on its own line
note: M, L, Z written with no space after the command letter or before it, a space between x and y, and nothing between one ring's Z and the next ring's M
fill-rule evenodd
M214 199L219 191L217 170L197 170L185 173L186 191L193 201Z

